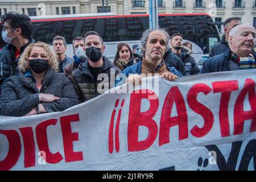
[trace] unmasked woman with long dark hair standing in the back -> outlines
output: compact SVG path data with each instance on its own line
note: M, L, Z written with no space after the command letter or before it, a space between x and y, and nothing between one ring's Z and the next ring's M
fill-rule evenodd
M113 64L122 71L123 69L136 63L137 62L134 60L133 52L131 51L130 46L126 43L119 43L117 45L117 53L115 54Z

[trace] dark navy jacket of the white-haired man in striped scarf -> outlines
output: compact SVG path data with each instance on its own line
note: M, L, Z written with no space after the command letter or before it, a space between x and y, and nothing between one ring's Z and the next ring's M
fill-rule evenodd
M207 59L203 68L201 69L201 73L210 73L210 72L225 72L230 71L229 66L229 57L230 57L230 48L228 48L224 53L220 55L216 55ZM256 60L256 53L251 52Z

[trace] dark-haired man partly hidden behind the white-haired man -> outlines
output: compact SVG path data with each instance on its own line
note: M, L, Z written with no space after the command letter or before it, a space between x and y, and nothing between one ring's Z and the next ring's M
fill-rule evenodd
M222 36L221 41L219 43L215 44L212 47L208 58L219 55L220 53L224 53L226 49L229 48L229 32L230 30L232 30L233 27L236 27L238 24L241 24L241 22L240 19L237 17L231 17L225 20L223 25L225 35Z

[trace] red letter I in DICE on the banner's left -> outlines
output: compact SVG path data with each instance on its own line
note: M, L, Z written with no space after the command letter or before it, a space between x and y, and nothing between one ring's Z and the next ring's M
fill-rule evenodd
M19 130L24 143L24 167L33 167L35 166L35 140L32 127L23 127Z

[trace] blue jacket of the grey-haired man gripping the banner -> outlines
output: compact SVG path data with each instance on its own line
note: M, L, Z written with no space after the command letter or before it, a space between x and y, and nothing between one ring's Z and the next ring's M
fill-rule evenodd
M134 74L134 73L138 73L139 75L141 75L141 64L142 64L142 61L139 61L139 63L133 64L130 67L123 69L122 73L125 74L126 77L128 77L130 74ZM167 65L168 71L170 71L171 73L174 73L174 75L177 75L178 77L183 76L182 73L177 71L177 69L174 66L172 66L170 64L166 64L166 65ZM120 81L122 81L122 84L125 83L125 80L118 80L118 78L117 78L117 80L115 81L115 85L117 85Z

